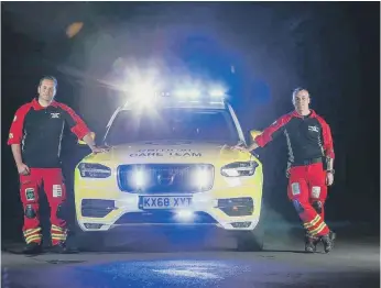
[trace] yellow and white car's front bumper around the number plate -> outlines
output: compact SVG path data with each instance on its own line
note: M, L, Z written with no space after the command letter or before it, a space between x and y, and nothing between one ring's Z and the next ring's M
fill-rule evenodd
M177 209L142 209L142 195L120 193L113 199L96 198L96 193L85 195L92 197L76 198L77 222L83 231L109 231L118 226L137 225L210 225L239 231L257 226L262 191L255 187L247 187L225 195L216 191L177 195L179 198L192 198L189 207ZM175 195L154 195L168 196Z

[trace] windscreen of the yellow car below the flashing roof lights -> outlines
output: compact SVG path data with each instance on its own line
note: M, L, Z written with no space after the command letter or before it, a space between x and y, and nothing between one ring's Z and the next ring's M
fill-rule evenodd
M233 145L239 141L239 136L228 111L172 108L145 113L120 111L106 137L107 144L112 146L155 141Z

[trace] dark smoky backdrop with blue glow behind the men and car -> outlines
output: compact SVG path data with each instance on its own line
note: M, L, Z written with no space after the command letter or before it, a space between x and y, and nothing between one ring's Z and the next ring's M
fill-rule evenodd
M22 206L9 128L15 110L36 96L43 75L58 79L57 100L97 132L118 104L111 86L131 58L168 63L198 58L230 75L232 104L243 129L263 129L290 112L292 90L305 86L312 107L330 124L337 158L328 223L380 220L380 4L378 2L258 3L2 3L2 239L21 239ZM67 37L76 21L83 30ZM101 136L100 136L101 137ZM46 145L48 145L46 143ZM67 177L86 154L65 141ZM268 207L287 221L284 139L260 151Z

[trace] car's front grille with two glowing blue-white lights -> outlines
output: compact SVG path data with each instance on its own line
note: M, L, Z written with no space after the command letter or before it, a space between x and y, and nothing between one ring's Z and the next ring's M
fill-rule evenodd
M118 167L121 191L135 193L193 193L210 190L214 166L209 164L149 164Z

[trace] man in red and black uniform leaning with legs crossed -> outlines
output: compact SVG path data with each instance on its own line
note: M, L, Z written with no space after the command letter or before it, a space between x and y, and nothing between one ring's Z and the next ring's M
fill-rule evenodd
M327 186L334 182L334 143L329 125L309 109L309 102L306 89L295 89L295 111L281 117L266 128L249 148L235 148L251 152L265 146L280 134L285 135L290 156L287 195L306 230L305 251L315 252L317 243L322 241L325 252L328 253L336 236L324 219Z

